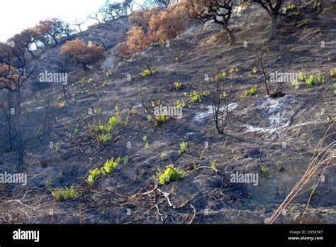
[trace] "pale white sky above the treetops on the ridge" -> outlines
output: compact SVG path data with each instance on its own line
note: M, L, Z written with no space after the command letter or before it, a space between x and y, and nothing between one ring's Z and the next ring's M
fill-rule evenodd
M33 27L46 18L58 17L70 23L76 18L85 20L104 2L105 0L1 0L0 42L6 42L16 33ZM87 24L92 23L94 22Z

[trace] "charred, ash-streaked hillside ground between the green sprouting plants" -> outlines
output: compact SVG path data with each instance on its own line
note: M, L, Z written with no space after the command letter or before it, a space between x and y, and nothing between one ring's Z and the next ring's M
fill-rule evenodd
M11 192L20 201L8 198L9 194L4 197L0 222L263 224L301 179L314 147L335 120L335 77L327 75L336 67L335 21L335 13L284 19L279 37L269 42L267 13L256 10L248 21L245 13L235 15L231 26L237 45L233 47L219 26L194 23L170 40L169 47L153 45L115 64L108 77L103 69L70 72L63 109L58 107L63 99L60 85L37 87L37 82L30 82L23 102L24 131L30 140L25 158L28 186ZM114 45L125 40L129 24L123 20L112 24L78 37L108 47L113 55ZM265 45L269 46L264 58L268 72L281 66L285 72L316 75L322 71L325 82L314 87L300 82L297 89L289 82L284 84L283 97L267 96L257 60ZM52 70L58 51L59 47L40 55L40 70ZM144 77L141 72L147 67L155 73ZM230 68L238 70L230 73ZM252 73L254 68L257 72ZM219 135L211 97L193 102L189 95L209 92L206 75L223 70L232 97L225 134ZM174 89L174 82L181 82L181 89ZM257 87L256 95L243 93L252 86ZM269 87L274 92L278 84L269 83ZM186 102L181 118L169 117L163 126L147 119L142 104L159 101L174 106L178 100ZM99 141L91 127L106 124L118 111L122 121L113 128L111 141ZM43 129L40 134L35 133L37 126ZM335 124L332 128L335 131ZM188 146L179 155L183 141ZM332 141L335 135L325 143ZM100 168L111 157L124 159L111 175L101 175L93 186L87 185L89 170ZM0 170L15 171L13 158L13 152L0 155ZM169 164L184 170L185 176L157 188L153 176ZM257 174L257 185L230 182L236 172ZM335 168L325 172L304 222L336 223L335 172ZM57 201L45 190L46 182L52 188L74 185L80 196ZM9 189L0 192L5 195ZM277 223L298 223L309 195L301 194Z

